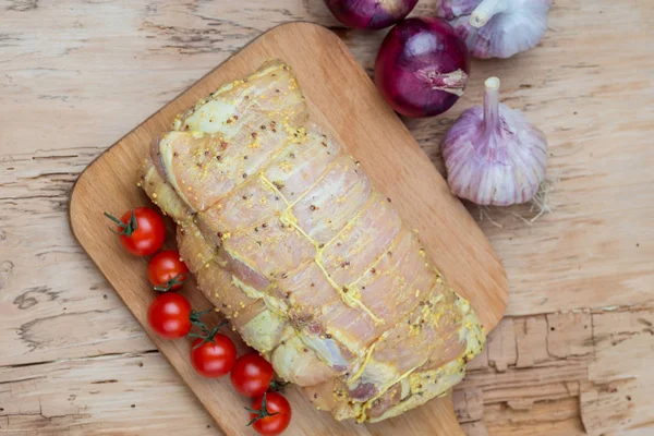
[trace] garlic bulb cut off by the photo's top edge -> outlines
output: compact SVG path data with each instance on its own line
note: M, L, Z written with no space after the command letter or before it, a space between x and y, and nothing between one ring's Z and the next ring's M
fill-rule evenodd
M541 41L550 7L552 0L440 0L436 14L475 58L510 58Z

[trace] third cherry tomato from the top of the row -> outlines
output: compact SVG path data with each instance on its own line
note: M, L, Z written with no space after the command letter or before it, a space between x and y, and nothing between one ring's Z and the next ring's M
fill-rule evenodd
M191 331L191 304L177 292L160 293L147 310L147 322L161 338L183 338Z

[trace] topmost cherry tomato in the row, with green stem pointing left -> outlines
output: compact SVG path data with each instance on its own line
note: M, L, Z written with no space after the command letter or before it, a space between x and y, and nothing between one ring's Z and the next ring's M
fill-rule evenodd
M118 234L124 249L135 256L149 256L164 245L166 228L159 214L148 207L135 207L120 220L105 213L118 225Z

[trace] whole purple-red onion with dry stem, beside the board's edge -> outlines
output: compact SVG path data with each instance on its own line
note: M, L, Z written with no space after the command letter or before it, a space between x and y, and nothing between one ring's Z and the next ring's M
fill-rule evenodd
M433 117L463 95L469 71L465 43L449 24L440 19L409 19L382 43L375 83L397 112Z

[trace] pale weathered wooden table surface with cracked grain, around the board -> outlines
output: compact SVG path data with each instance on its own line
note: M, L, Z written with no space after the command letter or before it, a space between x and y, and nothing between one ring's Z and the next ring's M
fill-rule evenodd
M384 33L339 27L322 0L0 0L0 434L220 434L72 238L69 194L134 125L298 20L372 71ZM654 434L653 26L650 0L555 0L538 48L473 63L547 134L553 190L534 222L470 206L510 298L455 391L469 435ZM479 101L407 121L439 169Z

